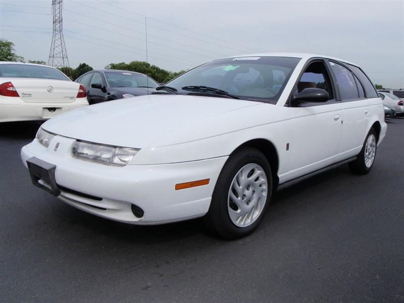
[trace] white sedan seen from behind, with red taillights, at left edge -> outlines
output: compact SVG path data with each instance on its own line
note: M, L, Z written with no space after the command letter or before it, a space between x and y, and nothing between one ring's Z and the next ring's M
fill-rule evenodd
M46 120L87 106L84 86L51 66L0 62L0 122Z

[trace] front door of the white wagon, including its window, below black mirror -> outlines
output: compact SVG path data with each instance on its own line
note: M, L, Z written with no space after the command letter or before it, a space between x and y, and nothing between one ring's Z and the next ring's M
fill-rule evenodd
M343 133L343 107L338 102L329 69L317 59L305 68L292 93L317 87L328 91L324 103L291 105L293 140L290 178L316 171L338 162Z

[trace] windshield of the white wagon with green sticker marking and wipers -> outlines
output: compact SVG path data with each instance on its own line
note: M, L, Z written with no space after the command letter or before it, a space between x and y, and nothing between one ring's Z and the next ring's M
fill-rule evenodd
M196 67L166 85L179 94L215 95L214 90L197 88L204 86L240 99L276 103L299 61L288 57L221 59Z

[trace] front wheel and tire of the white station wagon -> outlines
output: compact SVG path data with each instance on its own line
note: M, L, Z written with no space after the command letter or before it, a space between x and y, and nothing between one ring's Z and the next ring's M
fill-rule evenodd
M235 151L216 182L206 226L226 239L250 234L264 218L272 188L271 166L261 151L251 147Z

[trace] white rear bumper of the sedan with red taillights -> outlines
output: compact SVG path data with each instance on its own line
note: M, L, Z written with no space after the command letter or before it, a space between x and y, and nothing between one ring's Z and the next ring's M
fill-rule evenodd
M0 99L0 122L47 120L67 111L88 106L86 98L72 103L27 103L19 97Z

